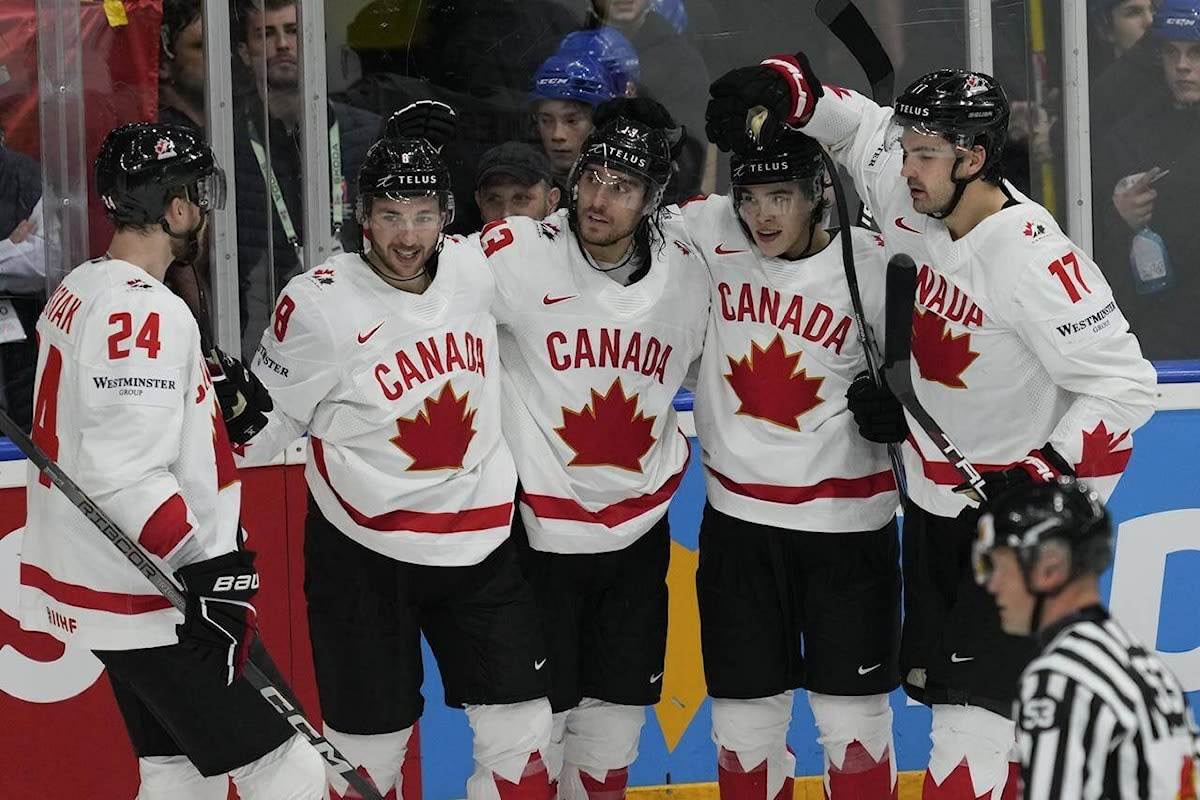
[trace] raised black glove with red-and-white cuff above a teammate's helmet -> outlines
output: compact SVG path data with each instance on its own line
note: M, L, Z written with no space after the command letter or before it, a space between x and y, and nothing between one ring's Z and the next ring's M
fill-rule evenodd
M704 133L721 150L745 152L768 145L781 125L798 127L824 95L803 53L775 55L752 67L731 70L708 88ZM767 109L755 142L746 134L746 114L756 106Z

